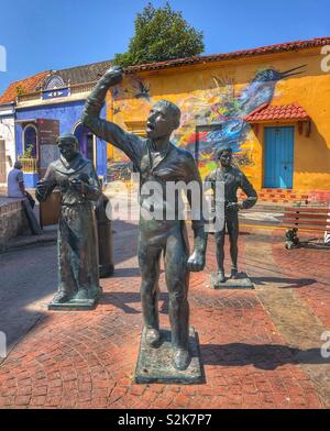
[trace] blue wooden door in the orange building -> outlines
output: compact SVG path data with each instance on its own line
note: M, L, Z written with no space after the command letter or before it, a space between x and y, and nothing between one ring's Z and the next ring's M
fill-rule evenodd
M293 188L294 126L265 128L265 188Z

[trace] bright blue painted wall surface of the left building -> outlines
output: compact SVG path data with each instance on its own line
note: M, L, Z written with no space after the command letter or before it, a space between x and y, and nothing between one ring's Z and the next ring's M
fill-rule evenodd
M18 120L29 119L50 119L59 121L59 133L72 132L74 125L80 120L81 112L85 101L67 101L65 103L47 104L41 107L32 107L16 110ZM101 111L101 117L106 117L106 108ZM15 124L16 132L16 154L23 153L22 142L22 128ZM97 139L97 156L96 156L96 168L99 176L107 177L107 143L100 139Z

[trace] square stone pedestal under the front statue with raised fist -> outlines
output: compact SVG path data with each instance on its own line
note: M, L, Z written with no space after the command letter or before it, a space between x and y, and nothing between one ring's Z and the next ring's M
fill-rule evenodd
M188 368L178 371L172 364L170 331L161 330L158 347L151 347L145 343L143 331L134 376L135 383L173 383L184 385L202 383L198 336L193 327L189 328L189 352L191 362Z

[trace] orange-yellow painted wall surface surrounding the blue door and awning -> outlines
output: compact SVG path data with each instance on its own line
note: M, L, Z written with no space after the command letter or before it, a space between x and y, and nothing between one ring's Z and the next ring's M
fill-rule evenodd
M107 118L142 135L151 107L160 99L170 100L182 110L180 128L172 141L193 152L196 126L223 123L223 119L230 118L233 129L239 130L234 146L237 164L257 190L263 188L264 125L295 125L294 190L330 190L330 71L321 70L323 57L319 49L312 48L129 75L108 92ZM284 71L297 67L292 73L298 75L279 78ZM264 85L261 76L266 76L267 70L275 70L277 79ZM238 107L242 91L246 96L243 109ZM311 118L310 135L300 134L296 122L270 122L254 131L242 120L249 113L244 109L251 112L265 101L298 102ZM233 115L228 107L237 107ZM206 145L199 164L202 176L215 167L210 147L219 143L223 145L223 139L216 133L215 142ZM127 159L112 145L108 157L114 162Z

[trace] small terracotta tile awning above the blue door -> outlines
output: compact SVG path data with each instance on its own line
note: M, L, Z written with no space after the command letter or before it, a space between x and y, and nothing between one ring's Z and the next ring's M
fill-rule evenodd
M309 115L305 111L305 109L298 103L290 104L280 104L280 106L272 106L272 104L263 104L260 108L255 109L248 117L245 117L245 121L254 122L254 121L265 121L265 120L308 120Z

